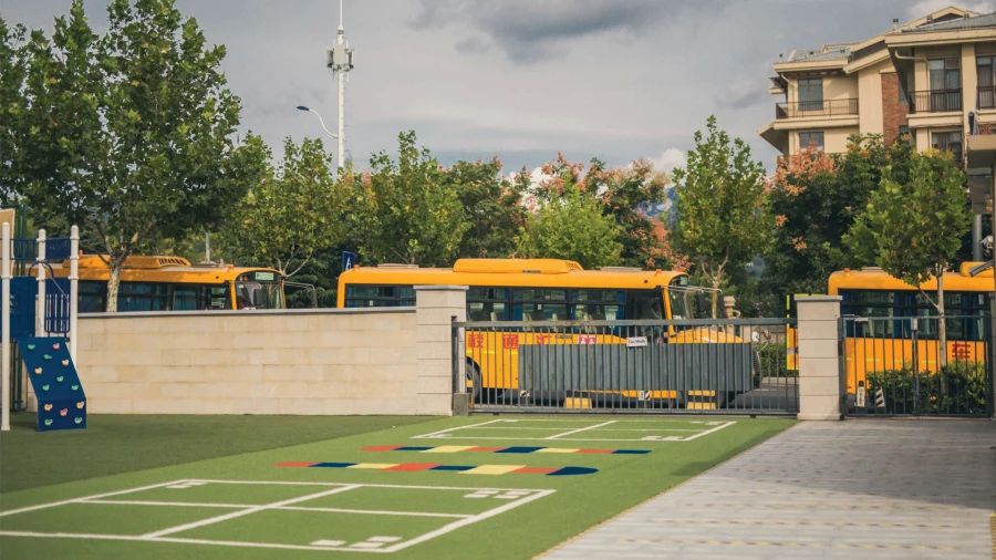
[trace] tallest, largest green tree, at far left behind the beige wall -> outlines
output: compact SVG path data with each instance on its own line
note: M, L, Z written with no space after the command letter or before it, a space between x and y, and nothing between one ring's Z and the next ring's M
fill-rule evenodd
M224 46L206 46L194 19L172 0L113 0L108 29L90 29L81 0L39 31L28 74L17 164L24 179L0 185L82 222L111 267L107 311L117 309L125 259L156 235L217 225L266 172L252 135L234 142L239 100L226 89Z

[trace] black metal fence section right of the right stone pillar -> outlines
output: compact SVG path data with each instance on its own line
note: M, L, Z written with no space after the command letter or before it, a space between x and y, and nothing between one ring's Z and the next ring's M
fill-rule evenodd
M993 415L989 317L844 317L841 407L849 416Z

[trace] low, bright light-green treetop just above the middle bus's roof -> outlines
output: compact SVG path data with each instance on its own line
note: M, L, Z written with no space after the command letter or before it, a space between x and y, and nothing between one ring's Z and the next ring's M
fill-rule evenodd
M566 182L559 196L540 204L536 217L522 228L519 253L533 258L567 259L585 269L619 265L623 228L602 214L598 198Z

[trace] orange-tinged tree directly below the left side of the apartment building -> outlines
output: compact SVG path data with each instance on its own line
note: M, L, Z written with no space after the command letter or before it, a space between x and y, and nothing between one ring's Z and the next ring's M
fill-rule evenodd
M913 148L886 147L881 135L854 135L847 152L808 148L782 158L769 182L774 240L765 255L776 293L822 293L830 273L850 263L842 238L864 211L882 170L909 168Z

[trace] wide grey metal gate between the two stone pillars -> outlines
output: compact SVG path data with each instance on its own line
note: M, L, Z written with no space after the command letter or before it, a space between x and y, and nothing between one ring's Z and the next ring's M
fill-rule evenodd
M454 323L471 412L798 412L790 319Z

